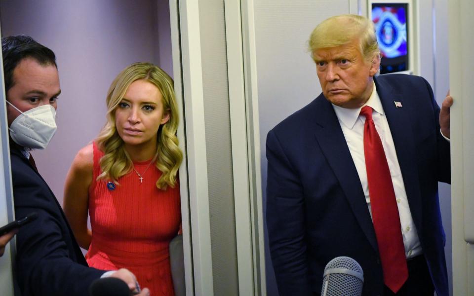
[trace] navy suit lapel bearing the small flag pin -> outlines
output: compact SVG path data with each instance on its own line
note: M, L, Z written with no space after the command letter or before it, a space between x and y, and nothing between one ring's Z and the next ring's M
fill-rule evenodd
M418 233L422 229L421 196L418 185L418 170L415 157L414 133L412 129L412 118L416 111L410 104L410 96L407 93L393 89L385 80L385 76L375 78L377 93L382 102L382 107L389 122L390 132L394 139L396 157L400 166L406 196L410 206L411 216L416 225ZM400 102L402 107L397 108L395 102Z

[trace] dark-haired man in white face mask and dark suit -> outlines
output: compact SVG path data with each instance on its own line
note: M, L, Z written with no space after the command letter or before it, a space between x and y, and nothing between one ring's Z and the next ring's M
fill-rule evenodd
M56 129L61 91L54 53L27 36L2 38L2 53L15 216L38 214L17 234L15 280L22 295L88 295L90 284L107 276L137 291L135 276L127 269L106 272L87 266L61 206L31 157L31 149L45 148ZM140 295L148 295L148 289Z

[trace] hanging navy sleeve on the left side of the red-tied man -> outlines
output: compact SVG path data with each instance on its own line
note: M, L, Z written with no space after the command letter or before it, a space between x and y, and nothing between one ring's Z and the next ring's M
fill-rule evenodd
M267 159L267 227L278 291L310 295L303 187L273 130Z

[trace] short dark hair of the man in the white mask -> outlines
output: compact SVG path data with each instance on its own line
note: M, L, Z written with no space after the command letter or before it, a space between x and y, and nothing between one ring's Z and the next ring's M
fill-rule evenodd
M13 71L25 58L33 58L40 65L54 65L56 56L54 52L35 41L32 37L17 35L1 38L1 52L3 54L3 75L5 77L5 92L14 84Z

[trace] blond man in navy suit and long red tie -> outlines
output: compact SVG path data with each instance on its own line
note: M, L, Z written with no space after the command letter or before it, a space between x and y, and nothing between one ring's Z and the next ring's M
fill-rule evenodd
M448 295L437 182L450 182L452 98L440 112L422 77L376 76L365 17L329 18L309 43L323 93L267 136L280 295L318 295L339 256L361 265L363 295Z

